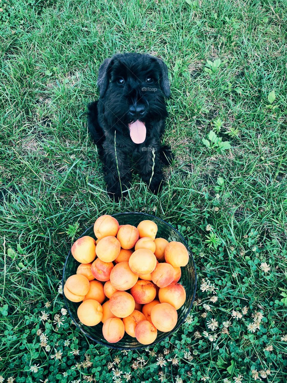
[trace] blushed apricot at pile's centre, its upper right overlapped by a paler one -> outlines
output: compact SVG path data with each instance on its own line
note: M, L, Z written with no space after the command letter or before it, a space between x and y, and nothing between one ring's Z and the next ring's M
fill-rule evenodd
M111 284L119 291L129 290L138 279L139 275L130 269L129 262L115 265L110 275Z

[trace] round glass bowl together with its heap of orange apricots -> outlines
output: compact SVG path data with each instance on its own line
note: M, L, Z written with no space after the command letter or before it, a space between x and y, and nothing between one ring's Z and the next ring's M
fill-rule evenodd
M73 243L64 301L93 341L140 349L171 336L191 310L196 267L183 236L146 213L103 215Z

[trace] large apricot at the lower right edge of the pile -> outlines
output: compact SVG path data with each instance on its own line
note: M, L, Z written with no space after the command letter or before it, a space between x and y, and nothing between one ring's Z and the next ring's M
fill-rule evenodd
M153 306L150 313L153 325L163 332L171 331L178 321L176 309L169 303L159 303Z

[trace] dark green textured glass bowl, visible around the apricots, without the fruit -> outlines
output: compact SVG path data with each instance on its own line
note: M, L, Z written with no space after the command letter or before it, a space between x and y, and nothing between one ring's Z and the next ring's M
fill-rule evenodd
M80 303L74 303L69 300L64 296L64 301L67 306L68 312L70 314L70 317L72 318L73 322L75 325L85 334L86 337L94 340L97 343L100 343L102 345L105 345L107 347L112 347L113 349L119 349L119 350L130 350L130 349L141 349L145 348L148 346L152 346L158 342L161 342L164 340L166 337L171 336L171 334L178 329L179 326L183 323L184 319L188 315L192 303L194 301L194 296L196 292L196 282L197 282L197 277L196 277L196 267L194 263L194 259L192 257L191 251L188 247L188 244L184 240L183 236L173 228L170 224L167 222L163 221L163 219L157 218L155 216L152 216L150 214L146 213L118 213L113 215L114 218L117 219L120 225L124 224L130 224L137 226L140 221L143 221L144 219L149 219L150 221L153 221L157 224L158 227L158 232L157 232L157 237L162 237L170 241L178 241L184 244L186 248L188 249L189 252L189 262L185 267L181 267L181 278L179 280L179 283L181 283L186 291L186 301L177 310L178 312L178 322L174 329L172 329L169 332L157 332L157 339L155 342L149 345L142 345L137 341L137 339L130 337L125 333L124 337L117 343L108 343L102 334L102 327L103 324L100 322L96 326L85 326L83 325L77 316L77 309ZM90 228L86 229L86 231L80 236L90 236L96 239L94 231L93 231L93 226L92 225ZM64 265L64 270L63 270L63 278L62 278L62 283L63 286L65 285L65 282L70 275L76 274L77 267L79 263L73 258L71 252L69 252L65 265Z

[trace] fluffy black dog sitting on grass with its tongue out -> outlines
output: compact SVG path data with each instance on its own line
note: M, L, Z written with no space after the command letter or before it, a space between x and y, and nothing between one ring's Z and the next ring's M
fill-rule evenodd
M132 166L157 193L163 166L172 159L170 148L160 144L170 96L165 63L149 54L116 54L99 67L97 83L100 97L88 105L88 130L104 164L109 195L119 200L126 193Z

